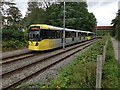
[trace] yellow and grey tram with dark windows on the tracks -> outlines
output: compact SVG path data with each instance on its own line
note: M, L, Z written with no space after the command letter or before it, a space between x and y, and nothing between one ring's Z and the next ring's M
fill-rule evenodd
M33 24L29 27L29 50L44 51L63 45L63 28L46 24ZM65 45L79 43L93 38L89 31L65 28Z

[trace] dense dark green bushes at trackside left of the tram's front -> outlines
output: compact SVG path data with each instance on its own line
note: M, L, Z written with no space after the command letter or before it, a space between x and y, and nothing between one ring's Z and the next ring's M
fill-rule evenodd
M27 33L13 28L4 28L2 30L2 44L3 52L26 47Z

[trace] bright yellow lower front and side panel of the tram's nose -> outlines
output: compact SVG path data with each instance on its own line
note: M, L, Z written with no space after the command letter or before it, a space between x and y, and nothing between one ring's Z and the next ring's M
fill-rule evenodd
M44 39L40 42L38 42L38 46L35 46L37 41L29 41L29 50L36 50L36 51L43 51L43 50L50 50L55 48L55 44L52 40L50 39Z

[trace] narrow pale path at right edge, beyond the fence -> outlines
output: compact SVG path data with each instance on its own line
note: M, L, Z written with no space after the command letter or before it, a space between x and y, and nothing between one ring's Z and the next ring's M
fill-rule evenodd
M115 40L114 38L111 38L115 53L115 58L118 60L118 63L120 64L120 42Z

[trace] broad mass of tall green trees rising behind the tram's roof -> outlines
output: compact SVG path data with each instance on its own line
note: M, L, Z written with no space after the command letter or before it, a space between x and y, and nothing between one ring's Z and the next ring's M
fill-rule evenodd
M28 10L23 26L44 23L63 27L63 2L28 2ZM89 13L86 2L66 2L66 28L92 31L96 25L96 18Z

